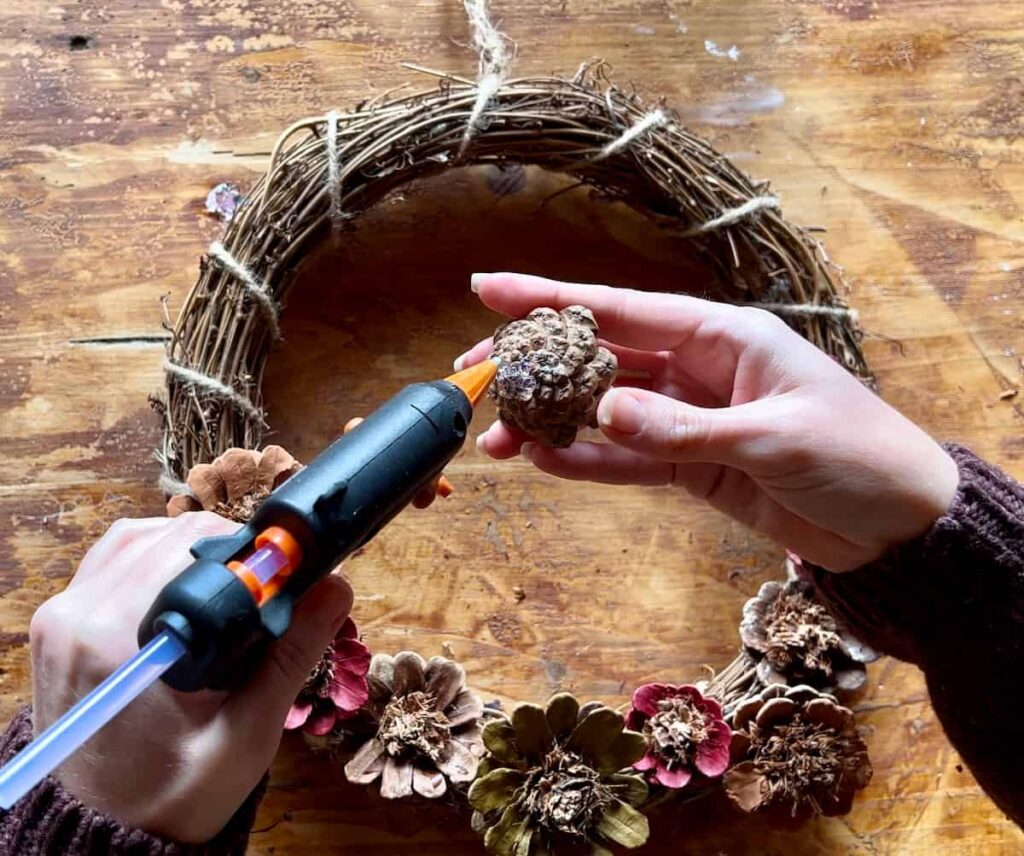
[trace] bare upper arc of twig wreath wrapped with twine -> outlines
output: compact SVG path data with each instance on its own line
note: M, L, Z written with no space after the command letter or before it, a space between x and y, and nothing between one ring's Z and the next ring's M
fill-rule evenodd
M476 84L432 74L441 82L431 91L292 125L202 258L165 361L165 490L179 491L190 467L227 448L258 447L263 368L310 245L399 185L456 167L539 166L629 204L692 242L717 274L717 297L779 314L870 382L856 314L821 245L782 217L767 182L671 112L612 86L601 63L571 79L502 83L482 115Z

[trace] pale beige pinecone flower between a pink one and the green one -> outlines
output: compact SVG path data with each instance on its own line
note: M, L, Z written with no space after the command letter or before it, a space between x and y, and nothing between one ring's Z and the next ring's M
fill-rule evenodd
M390 800L419 794L437 798L447 782L473 780L483 743L483 704L466 689L466 672L443 657L403 651L375 654L370 665L370 699L358 716L344 723L365 742L345 765L355 784L381 780Z

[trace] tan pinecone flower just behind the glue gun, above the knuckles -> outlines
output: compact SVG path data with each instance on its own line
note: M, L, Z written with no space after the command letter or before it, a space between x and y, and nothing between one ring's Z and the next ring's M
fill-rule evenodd
M280 445L261 452L229 448L212 464L197 464L188 471L185 483L191 496L171 497L167 515L213 511L245 523L274 487L300 469L302 465Z

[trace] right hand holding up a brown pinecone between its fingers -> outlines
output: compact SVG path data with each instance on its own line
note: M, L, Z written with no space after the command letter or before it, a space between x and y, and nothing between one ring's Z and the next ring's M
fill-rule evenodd
M477 440L545 472L611 484L676 484L831 570L924 533L958 473L921 428L761 309L679 295L482 273L473 289L512 317L538 306L593 310L621 370L597 419L610 443L556 450L495 423ZM485 358L485 340L456 360Z

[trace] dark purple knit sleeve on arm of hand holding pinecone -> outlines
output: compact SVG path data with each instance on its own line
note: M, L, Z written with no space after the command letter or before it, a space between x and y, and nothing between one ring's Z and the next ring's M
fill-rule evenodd
M916 664L950 741L1024 826L1024 486L962 446L948 512L915 542L850 573L812 568L869 645Z

